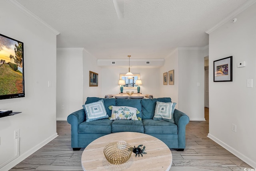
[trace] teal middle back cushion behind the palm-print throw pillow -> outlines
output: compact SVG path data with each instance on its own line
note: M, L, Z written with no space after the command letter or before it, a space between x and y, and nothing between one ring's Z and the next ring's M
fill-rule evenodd
M131 106L137 108L140 112L137 114L137 117L142 118L142 106L141 101L142 99L124 99L124 98L117 98L116 99L116 106ZM115 105L114 105L115 106Z

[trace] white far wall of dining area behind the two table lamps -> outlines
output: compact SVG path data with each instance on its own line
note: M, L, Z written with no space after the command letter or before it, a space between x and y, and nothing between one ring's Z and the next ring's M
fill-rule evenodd
M158 68L148 68L148 69L138 69L132 68L130 69L133 74L140 74L140 79L142 80L142 85L140 85L140 92L142 94L152 94L154 98L159 96L159 69ZM104 97L106 94L118 94L120 92L120 86L118 85L118 80L120 78L120 74L126 74L128 72L128 68L102 68L102 94L101 97ZM134 91L137 92L137 88L135 89L126 89L124 88L124 93L126 91Z

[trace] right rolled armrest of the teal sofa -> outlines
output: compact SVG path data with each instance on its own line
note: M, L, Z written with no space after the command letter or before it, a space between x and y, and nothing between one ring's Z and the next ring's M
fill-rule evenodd
M186 147L186 125L189 122L188 116L180 110L174 110L174 123L178 126L178 144L180 149Z

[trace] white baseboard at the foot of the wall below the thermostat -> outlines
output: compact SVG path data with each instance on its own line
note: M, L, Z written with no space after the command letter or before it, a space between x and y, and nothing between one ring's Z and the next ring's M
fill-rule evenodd
M247 163L251 167L256 168L256 161L252 161L252 159L248 158L247 156L245 156L244 154L240 153L236 149L230 147L228 144L220 141L218 138L214 137L210 133L208 134L207 137L210 138L211 140L213 140L214 142L218 143L220 146L222 146L223 148L228 150L230 153L234 154L236 157L238 157L239 159L241 159L242 161L244 161L245 163Z

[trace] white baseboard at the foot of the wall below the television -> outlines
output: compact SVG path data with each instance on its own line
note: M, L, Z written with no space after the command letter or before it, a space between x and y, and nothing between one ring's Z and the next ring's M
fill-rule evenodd
M0 168L0 171L6 171L6 170L12 169L12 167L18 165L18 163L22 162L28 156L32 155L34 152L36 152L38 149L42 148L44 145L46 145L47 143L49 143L50 141L52 141L56 137L58 137L57 133L50 136L49 138L47 138L43 142L39 143L38 145L34 146L32 149L26 151L25 153L23 153L22 155L20 155L16 159L14 159L13 161L10 161L10 163L8 163L5 166L3 166L2 168Z

